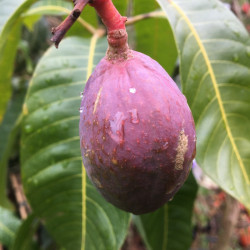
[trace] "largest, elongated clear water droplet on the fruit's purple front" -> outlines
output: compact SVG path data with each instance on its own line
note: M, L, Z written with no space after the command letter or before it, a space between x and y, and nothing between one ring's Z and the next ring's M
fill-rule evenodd
M111 138L117 143L124 141L125 116L122 112L117 112L113 121L110 121Z

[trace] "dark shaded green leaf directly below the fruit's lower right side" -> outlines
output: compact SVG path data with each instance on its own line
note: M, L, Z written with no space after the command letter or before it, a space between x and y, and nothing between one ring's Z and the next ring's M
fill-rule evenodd
M196 193L197 184L190 174L171 202L153 213L135 218L136 226L149 250L190 248L191 218Z

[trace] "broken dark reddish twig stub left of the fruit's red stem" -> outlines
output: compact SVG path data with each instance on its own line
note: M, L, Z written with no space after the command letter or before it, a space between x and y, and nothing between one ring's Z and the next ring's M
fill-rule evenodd
M58 45L63 39L66 32L81 15L84 7L89 2L89 0L73 0L73 2L75 7L70 15L59 26L52 28L53 37L51 38L51 41L55 43L56 48L58 48Z

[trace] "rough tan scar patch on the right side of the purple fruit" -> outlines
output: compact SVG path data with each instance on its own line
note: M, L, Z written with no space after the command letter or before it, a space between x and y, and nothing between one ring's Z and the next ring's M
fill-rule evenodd
M188 136L185 135L184 130L182 129L179 134L179 141L177 147L177 154L175 158L175 169L182 170L184 157L188 149Z

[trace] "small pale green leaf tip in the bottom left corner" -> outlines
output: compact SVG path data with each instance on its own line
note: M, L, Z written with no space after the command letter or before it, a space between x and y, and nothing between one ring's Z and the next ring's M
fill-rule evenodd
M0 242L10 247L21 221L8 209L0 207Z

